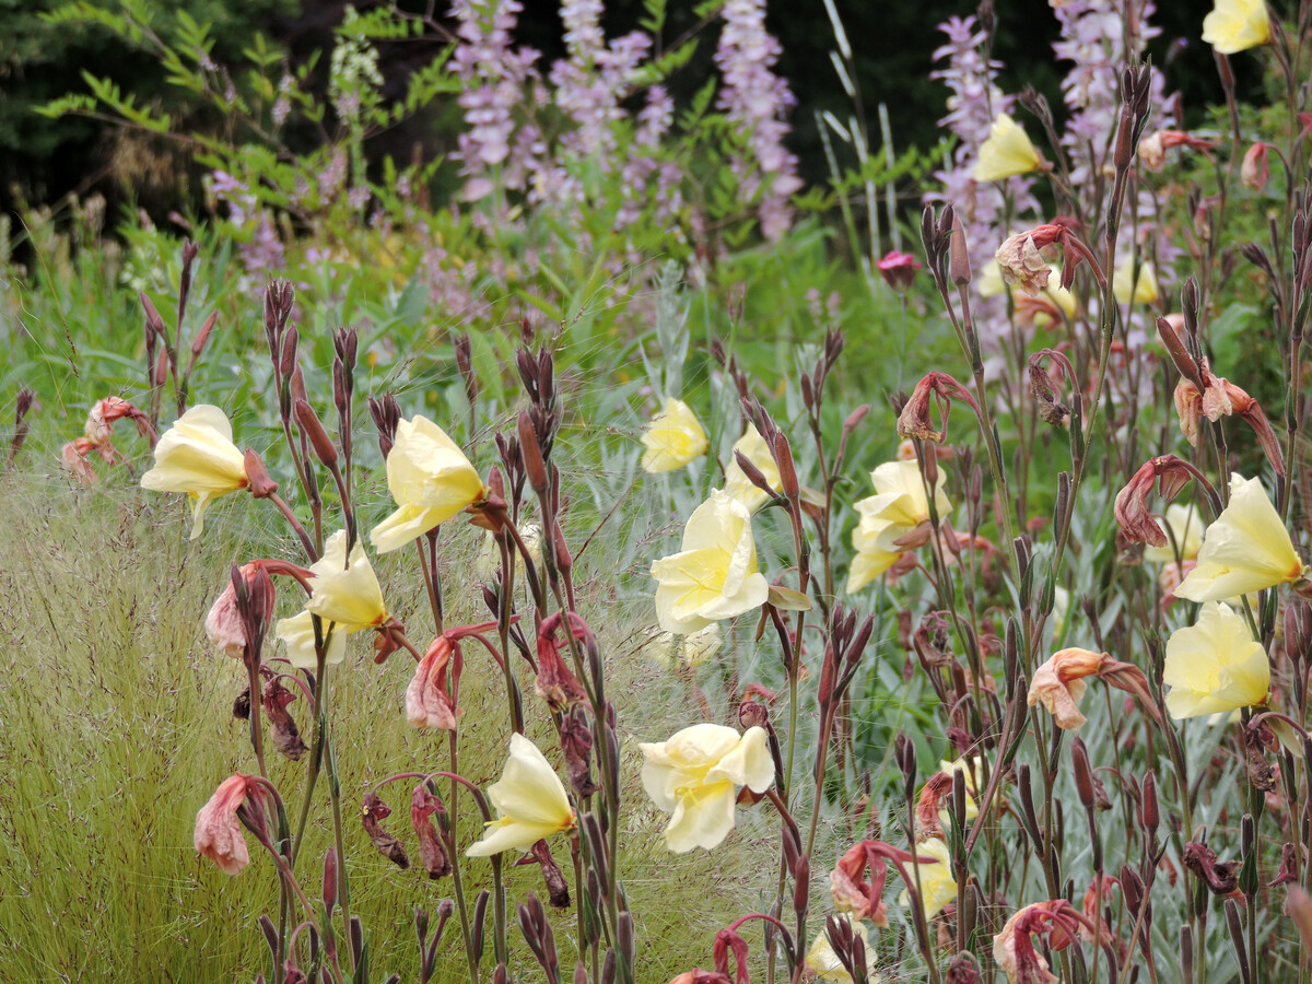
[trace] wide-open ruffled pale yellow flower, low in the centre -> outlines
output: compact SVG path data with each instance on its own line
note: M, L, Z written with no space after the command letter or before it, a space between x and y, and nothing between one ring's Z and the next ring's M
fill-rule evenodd
M639 748L647 757L643 789L657 807L672 811L665 846L676 854L719 845L733 829L739 790L765 792L774 783L765 728L739 735L722 724L694 724Z

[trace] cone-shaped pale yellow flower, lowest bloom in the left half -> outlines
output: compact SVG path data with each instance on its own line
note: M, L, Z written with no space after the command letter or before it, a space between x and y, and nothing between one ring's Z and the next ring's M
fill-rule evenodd
M546 756L523 735L510 736L510 757L501 779L488 786L497 819L489 820L483 840L464 851L485 858L504 850L527 850L543 837L573 827L575 813L565 787Z

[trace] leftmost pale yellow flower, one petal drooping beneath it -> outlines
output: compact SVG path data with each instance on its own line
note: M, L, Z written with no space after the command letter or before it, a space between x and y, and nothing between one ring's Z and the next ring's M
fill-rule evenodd
M142 488L192 497L192 539L201 535L210 502L245 487L245 457L232 443L232 425L223 411L205 403L164 432L155 445L155 467L142 475Z

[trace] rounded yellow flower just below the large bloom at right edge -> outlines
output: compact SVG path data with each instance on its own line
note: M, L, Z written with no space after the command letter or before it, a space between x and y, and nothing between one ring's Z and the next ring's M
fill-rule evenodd
M1248 622L1229 605L1210 601L1198 625L1177 628L1166 640L1161 682L1166 711L1177 720L1252 707L1266 701L1271 668Z

